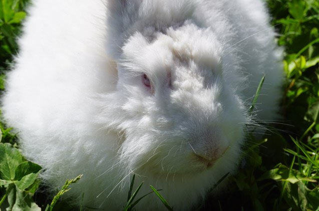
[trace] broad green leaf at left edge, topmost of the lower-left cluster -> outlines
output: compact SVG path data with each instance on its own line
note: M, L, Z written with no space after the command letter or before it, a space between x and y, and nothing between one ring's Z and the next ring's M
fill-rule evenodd
M14 180L15 170L24 161L18 149L9 143L0 143L0 179Z

